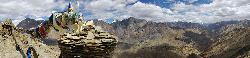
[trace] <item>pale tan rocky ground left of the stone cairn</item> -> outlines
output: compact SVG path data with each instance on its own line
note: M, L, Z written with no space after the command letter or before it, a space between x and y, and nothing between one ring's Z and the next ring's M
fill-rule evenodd
M58 58L60 54L57 45L46 45L37 38L31 38L28 34L0 36L0 58L27 58L28 47L34 48L32 51L36 53L32 55L34 58Z

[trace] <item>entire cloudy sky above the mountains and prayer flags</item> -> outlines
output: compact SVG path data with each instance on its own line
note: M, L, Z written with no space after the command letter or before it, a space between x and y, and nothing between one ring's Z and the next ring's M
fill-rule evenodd
M68 0L0 0L0 18L18 23L63 11ZM129 17L154 22L215 23L250 18L250 0L75 0L85 19L117 21ZM1 19L3 20L3 19Z

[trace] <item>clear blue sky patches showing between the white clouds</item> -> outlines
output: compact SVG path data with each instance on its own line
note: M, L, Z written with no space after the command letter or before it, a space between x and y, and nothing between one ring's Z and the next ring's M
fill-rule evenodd
M191 5L196 5L196 6L199 6L199 5L203 5L203 4L209 4L211 3L212 1L211 0L138 0L136 2L133 2L131 4L128 4L129 6L131 5L134 5L135 3L137 2L141 2L141 3L144 3L144 4L151 4L151 5L154 5L154 6L159 6L161 8L166 8L166 9L171 9L172 7L175 6L175 4L178 4L178 3L184 3L184 4L191 4ZM91 12L83 12L85 14L86 17L91 17L93 18L93 15ZM106 20L108 22L111 22L111 21L114 21L115 18L111 17L112 19L110 18L106 18ZM94 18L94 19L98 19L98 18ZM114 20L113 20L114 19Z

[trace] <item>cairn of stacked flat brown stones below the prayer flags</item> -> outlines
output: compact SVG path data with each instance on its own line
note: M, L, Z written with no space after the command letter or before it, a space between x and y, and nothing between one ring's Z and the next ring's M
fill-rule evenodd
M93 36L93 37L92 37ZM60 58L110 58L117 38L107 32L66 33L59 39Z

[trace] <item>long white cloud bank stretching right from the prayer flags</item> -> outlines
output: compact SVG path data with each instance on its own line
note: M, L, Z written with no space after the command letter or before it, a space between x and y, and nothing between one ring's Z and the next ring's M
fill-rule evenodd
M134 3L134 4L131 4ZM87 11L92 13L92 19L122 20L129 17L136 17L146 20L165 19L169 9L165 9L154 4L145 4L137 0L95 0L86 4Z

